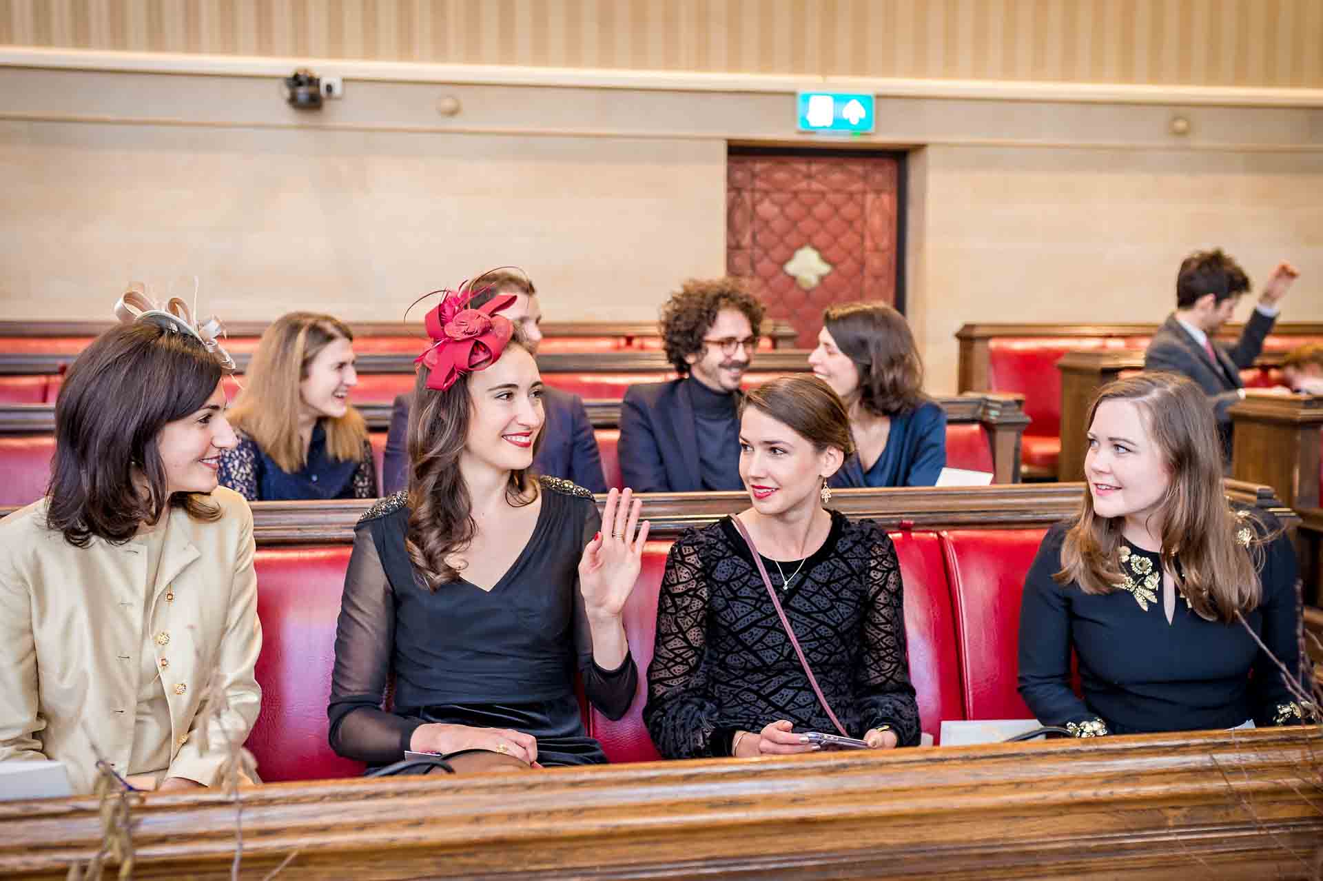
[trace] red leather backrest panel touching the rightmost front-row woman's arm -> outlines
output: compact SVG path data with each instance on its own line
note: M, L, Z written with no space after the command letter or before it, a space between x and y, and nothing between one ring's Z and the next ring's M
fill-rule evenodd
M1020 595L1046 529L942 533L966 718L1033 718L1017 689Z

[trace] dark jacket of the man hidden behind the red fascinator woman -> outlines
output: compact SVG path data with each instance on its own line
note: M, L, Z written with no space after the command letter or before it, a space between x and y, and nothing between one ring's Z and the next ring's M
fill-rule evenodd
M397 397L390 411L390 434L386 435L386 452L381 463L382 488L388 496L409 487L409 451L405 439L411 407L410 392ZM546 386L542 389L542 411L546 414L542 448L533 459L533 470L550 478L573 480L591 492L606 492L602 454L597 448L583 398Z

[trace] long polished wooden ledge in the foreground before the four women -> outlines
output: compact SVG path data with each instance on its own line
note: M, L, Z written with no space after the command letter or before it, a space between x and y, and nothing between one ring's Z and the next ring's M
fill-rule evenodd
M1319 728L242 791L245 878L1306 877ZM147 795L136 878L226 878L235 806ZM0 803L0 874L65 878L91 798Z

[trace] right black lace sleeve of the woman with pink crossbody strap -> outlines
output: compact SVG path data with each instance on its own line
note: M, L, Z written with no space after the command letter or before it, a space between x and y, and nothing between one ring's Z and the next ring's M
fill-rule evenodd
M890 725L900 746L919 742L918 701L905 653L905 597L896 545L876 524L869 526L868 611L864 651L855 671L855 694L864 730ZM861 525L864 525L861 524Z

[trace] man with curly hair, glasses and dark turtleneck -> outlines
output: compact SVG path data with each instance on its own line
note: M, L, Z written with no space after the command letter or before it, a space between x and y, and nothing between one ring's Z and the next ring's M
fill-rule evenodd
M630 388L620 406L620 475L635 492L742 489L740 381L763 307L733 278L689 279L662 307L679 380Z

